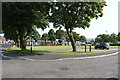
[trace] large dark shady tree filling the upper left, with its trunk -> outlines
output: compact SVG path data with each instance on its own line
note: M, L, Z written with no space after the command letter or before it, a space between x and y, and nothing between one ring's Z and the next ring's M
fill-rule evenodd
M49 14L48 3L5 2L2 3L3 32L5 37L20 41L20 48L26 49L25 38L31 33L32 26L45 29Z

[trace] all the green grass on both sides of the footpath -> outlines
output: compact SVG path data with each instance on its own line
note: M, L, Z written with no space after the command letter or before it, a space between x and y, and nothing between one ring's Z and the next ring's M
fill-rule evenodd
M77 52L72 51L66 51L66 52L58 52L57 54L63 54L63 55L77 55L77 54L88 54L88 53L96 53L96 52L104 52L108 50L92 50L92 52L89 52L87 46L87 52L84 52L84 46L77 46L81 47L82 49L78 49ZM119 46L120 47L120 46ZM71 46L33 46L32 53L30 52L30 46L27 46L27 50L20 50L20 48L13 46L10 47L7 51L5 51L4 54L6 55L31 55L31 54L42 54L44 52L51 52L51 51L58 51L63 49L71 49ZM94 46L92 46L92 49ZM118 46L110 46L110 48L118 48Z

